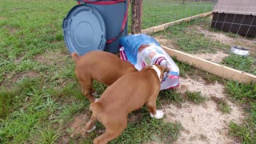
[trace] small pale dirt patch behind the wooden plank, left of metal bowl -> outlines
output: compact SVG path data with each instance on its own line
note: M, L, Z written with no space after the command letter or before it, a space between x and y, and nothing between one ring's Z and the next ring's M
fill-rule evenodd
M220 63L224 58L229 56L230 54L226 54L223 51L218 51L217 53L202 53L202 54L194 54L195 57L206 59L210 62Z

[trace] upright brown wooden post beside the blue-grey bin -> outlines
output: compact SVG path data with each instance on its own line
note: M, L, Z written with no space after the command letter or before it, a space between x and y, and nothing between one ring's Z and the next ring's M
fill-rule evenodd
M142 32L142 2L143 0L131 0L131 34Z

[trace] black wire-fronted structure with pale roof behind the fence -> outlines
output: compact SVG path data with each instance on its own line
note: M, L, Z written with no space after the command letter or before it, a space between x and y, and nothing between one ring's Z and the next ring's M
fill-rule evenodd
M219 0L211 27L245 37L256 37L256 1Z

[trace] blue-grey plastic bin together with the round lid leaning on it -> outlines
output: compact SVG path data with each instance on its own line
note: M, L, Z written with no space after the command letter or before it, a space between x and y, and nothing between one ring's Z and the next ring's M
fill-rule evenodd
M82 55L92 50L117 53L119 50L119 38L127 35L128 20L126 20L122 34L120 32L129 1L126 0L126 2L110 5L86 3L82 0L77 1L79 3L78 6L74 6L70 10L62 24L64 39L70 53L77 52ZM94 2L93 0L90 1ZM84 10L92 11L92 14L85 13ZM113 42L106 43L117 36L118 38Z

